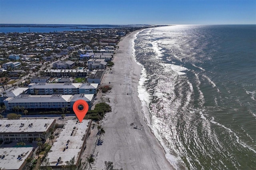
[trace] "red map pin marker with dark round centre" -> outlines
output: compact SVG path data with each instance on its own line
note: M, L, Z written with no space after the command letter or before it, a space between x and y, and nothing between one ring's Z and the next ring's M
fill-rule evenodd
M80 121L83 121L87 111L89 110L89 106L86 101L84 100L77 100L73 105L73 111L76 113L76 117Z

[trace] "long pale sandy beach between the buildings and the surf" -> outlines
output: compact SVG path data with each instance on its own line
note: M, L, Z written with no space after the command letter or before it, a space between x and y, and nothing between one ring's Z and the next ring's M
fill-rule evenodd
M102 85L112 90L105 94L110 99L112 112L102 121L105 135L103 143L96 147L92 169L105 169L104 161L113 162L114 169L123 170L170 170L164 149L144 122L138 98L138 79L141 67L132 56L132 32L118 43L114 55L114 67L108 69ZM112 73L110 73L112 72ZM111 82L109 84L109 82ZM137 128L137 129L136 129Z

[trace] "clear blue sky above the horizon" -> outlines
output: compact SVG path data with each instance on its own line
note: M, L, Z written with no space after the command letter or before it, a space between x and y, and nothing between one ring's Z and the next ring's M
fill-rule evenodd
M1 24L256 24L256 0L0 0Z

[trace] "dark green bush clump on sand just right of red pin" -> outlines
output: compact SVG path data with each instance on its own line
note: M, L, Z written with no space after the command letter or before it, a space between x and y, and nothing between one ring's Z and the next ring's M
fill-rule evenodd
M88 111L84 119L92 119L93 121L102 120L107 112L111 112L111 106L107 103L98 103L94 110Z

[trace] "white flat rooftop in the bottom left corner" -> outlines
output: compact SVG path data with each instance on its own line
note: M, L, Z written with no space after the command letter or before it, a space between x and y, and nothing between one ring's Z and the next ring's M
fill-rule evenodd
M5 155L3 159L0 159L0 168L2 170L18 170L31 152L33 152L33 147L0 148L0 155ZM20 154L23 156L18 159Z

